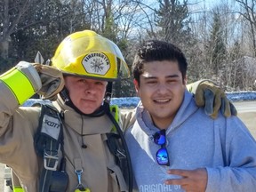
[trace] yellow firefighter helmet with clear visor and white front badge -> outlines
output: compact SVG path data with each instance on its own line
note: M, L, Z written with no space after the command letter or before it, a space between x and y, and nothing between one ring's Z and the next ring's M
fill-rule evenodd
M106 81L130 76L129 68L117 45L92 30L67 36L52 57L52 66L60 68L64 75Z

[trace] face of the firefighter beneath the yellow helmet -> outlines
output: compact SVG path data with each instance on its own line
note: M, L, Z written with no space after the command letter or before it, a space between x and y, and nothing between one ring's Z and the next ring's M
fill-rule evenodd
M65 86L68 89L70 99L76 108L84 114L92 114L100 108L107 84L106 81L77 76L65 77Z

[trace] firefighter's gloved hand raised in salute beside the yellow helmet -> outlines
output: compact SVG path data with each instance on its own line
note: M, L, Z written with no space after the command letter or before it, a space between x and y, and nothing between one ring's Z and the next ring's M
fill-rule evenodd
M47 65L33 64L41 78L42 87L37 92L43 100L56 100L57 94L64 87L64 78L61 71Z

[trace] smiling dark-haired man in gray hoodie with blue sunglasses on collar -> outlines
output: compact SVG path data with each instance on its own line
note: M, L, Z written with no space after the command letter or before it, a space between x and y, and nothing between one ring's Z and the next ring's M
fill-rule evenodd
M125 132L140 192L255 191L256 142L236 117L205 115L186 88L178 47L151 40L132 72L141 103Z

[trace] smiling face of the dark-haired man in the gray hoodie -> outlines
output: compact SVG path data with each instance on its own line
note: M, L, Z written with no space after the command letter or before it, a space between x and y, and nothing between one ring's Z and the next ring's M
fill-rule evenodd
M154 124L167 128L180 108L186 89L177 61L151 61L144 65L140 86L134 81L144 108L148 109Z

